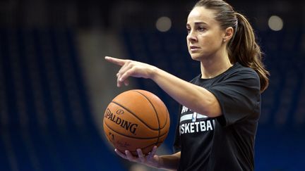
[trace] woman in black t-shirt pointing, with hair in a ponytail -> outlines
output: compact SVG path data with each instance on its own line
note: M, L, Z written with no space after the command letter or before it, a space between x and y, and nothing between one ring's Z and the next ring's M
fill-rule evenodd
M191 82L155 66L105 57L121 65L117 86L128 77L156 82L181 104L176 153L148 156L138 149L116 153L127 160L167 170L254 170L254 141L261 113L261 92L268 87L268 71L253 29L243 15L221 0L201 0L186 23L191 58L201 74Z

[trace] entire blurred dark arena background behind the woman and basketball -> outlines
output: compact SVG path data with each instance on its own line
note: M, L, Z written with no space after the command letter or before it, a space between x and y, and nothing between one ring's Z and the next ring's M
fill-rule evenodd
M228 0L265 52L256 170L305 170L305 1ZM156 65L181 79L200 72L186 48L193 0L0 1L0 170L154 170L115 155L104 139L108 103L152 91L171 113L158 153L173 153L178 104L150 80L116 87L104 56Z

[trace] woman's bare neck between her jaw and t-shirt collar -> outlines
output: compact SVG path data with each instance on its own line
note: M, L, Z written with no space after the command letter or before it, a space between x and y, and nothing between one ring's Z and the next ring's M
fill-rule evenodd
M232 63L230 63L227 55L218 58L205 58L201 61L201 78L216 77L230 67L232 67Z

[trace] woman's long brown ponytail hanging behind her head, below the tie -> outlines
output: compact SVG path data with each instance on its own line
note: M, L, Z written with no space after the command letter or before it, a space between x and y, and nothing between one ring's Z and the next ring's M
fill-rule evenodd
M229 60L231 63L239 62L241 65L252 68L258 73L261 81L261 92L267 89L269 84L268 70L262 62L262 52L256 43L256 37L248 20L240 13L234 13L237 17L237 28L228 44Z

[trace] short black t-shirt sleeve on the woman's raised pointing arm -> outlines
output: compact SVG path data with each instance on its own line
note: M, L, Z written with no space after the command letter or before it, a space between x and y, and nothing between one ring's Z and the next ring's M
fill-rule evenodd
M232 125L257 113L260 104L260 82L257 73L251 68L239 68L222 82L206 87L220 103L223 126Z

